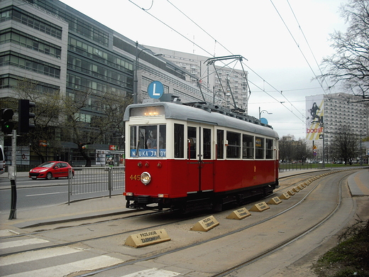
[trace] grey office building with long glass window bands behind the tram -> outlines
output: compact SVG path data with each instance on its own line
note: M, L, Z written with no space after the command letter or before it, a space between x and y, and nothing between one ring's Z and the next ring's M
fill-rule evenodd
M0 23L1 105L13 102L16 109L21 97L16 91L25 80L40 95L73 99L78 92L88 92L87 104L78 115L88 126L104 116L99 99L107 93L133 98L136 69L138 102L147 98L153 80L163 83L165 93L184 101L203 99L199 88L186 81L187 75L194 77L190 72L61 1L0 1ZM205 98L209 101L211 95ZM62 134L55 139L60 139L62 148L51 149L44 143L48 159L83 163L75 143L63 141ZM109 150L111 144L123 144L121 136L106 134L99 145L89 148L89 155L94 156L95 149ZM31 161L37 159L34 153L28 156Z

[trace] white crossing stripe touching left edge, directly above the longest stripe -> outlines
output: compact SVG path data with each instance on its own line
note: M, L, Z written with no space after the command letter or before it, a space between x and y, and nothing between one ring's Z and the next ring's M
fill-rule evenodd
M11 264L20 264L38 259L48 259L56 256L74 254L82 252L83 249L75 249L68 246L56 247L53 249L35 250L26 253L20 253L12 256L5 256L0 259L0 266L9 266Z

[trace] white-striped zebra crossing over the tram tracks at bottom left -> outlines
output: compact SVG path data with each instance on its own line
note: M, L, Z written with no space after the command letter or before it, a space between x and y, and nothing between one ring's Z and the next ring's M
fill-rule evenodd
M9 231L10 230L6 230ZM0 232L1 237L8 237L9 232ZM13 235L13 234L12 234ZM23 237L13 241L0 242L0 252L5 249L17 251L22 246L41 245L50 243L45 239ZM72 273L93 271L99 268L114 266L124 261L107 254L94 254L89 249L73 246L60 246L49 249L27 251L10 256L0 257L0 276L3 277L61 277ZM158 268L149 268L143 271L122 275L121 277L174 277L180 273Z

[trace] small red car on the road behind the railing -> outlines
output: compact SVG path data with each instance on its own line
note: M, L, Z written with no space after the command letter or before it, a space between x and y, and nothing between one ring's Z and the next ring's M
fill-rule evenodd
M36 168L32 168L29 172L29 178L36 180L37 178L45 178L50 180L51 178L68 178L68 174L71 173L70 178L75 175L75 170L69 163L61 161L49 161L38 165Z

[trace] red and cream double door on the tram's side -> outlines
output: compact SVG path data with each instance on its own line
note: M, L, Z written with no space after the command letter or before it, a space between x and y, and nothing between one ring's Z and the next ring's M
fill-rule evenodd
M187 126L187 159L189 178L197 191L213 190L214 162L212 160L211 126Z

